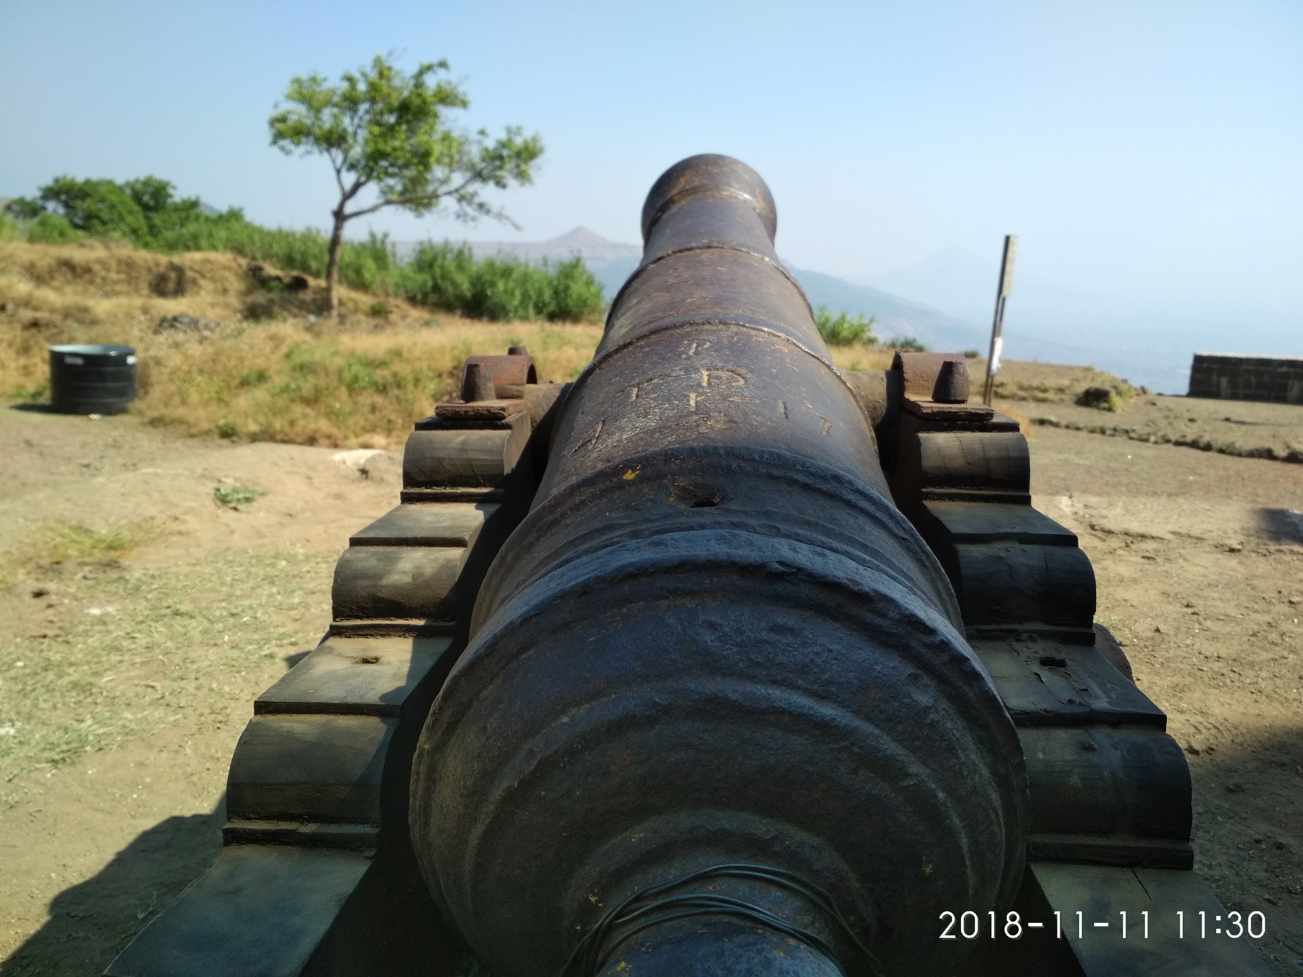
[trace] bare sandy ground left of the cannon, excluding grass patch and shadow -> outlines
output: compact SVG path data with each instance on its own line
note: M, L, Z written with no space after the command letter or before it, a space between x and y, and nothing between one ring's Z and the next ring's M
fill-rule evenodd
M103 588L115 578L184 576L202 591L229 585L229 572L215 573L218 561L258 551L298 555L288 563L304 574L291 590L301 599L276 608L279 646L267 653L253 641L238 671L210 670L202 696L180 694L190 707L179 720L136 728L116 746L60 766L5 769L0 757L4 977L100 973L216 852L227 767L253 698L328 624L331 573L349 534L397 503L396 455L371 459L370 477L362 477L332 461L335 453L179 439L129 417L0 410L0 548L23 548L51 521L91 529L160 524L152 543L116 561L122 567L38 568L0 591L0 683L30 668L50 644L35 634L64 633L69 649L93 647L86 611L104 603ZM214 502L219 485L267 494L235 511ZM31 597L36 591L46 593ZM223 594L207 598L220 602ZM132 610L121 606L119 614ZM216 640L199 637L176 651L199 657ZM169 690L165 675L141 677L152 679L142 683L142 696L154 694L149 685ZM0 702L4 692L0 685Z

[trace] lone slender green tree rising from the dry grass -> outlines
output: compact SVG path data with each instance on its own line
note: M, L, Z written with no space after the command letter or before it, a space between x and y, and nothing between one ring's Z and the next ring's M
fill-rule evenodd
M532 167L543 151L538 135L508 126L490 141L485 129L465 134L444 125L447 111L470 104L448 79L448 70L447 61L433 61L407 74L377 55L370 68L345 72L339 85L315 73L294 77L285 92L288 106L267 120L272 146L287 155L324 154L335 171L339 202L331 211L326 263L331 314L339 309L339 254L347 221L382 207L429 214L444 201L461 220L509 220L481 191L533 182ZM367 188L379 199L349 210Z

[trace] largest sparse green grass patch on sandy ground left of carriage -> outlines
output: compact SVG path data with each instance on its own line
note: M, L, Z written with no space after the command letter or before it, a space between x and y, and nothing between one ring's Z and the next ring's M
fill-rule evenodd
M55 638L0 647L0 784L151 735L189 716L225 722L249 670L310 640L287 624L330 593L334 558L232 551L189 568L61 586L100 608Z

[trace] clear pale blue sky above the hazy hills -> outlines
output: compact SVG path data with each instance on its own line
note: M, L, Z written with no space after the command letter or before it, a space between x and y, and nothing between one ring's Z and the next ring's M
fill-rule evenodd
M326 163L270 149L266 120L291 76L380 51L447 57L465 125L547 145L537 184L502 201L519 233L373 219L400 240L585 225L633 242L655 176L715 151L769 181L801 267L863 281L955 246L994 262L1012 231L1020 274L1171 323L1303 335L1294 0L7 0L0 195L149 172L262 223L323 225Z

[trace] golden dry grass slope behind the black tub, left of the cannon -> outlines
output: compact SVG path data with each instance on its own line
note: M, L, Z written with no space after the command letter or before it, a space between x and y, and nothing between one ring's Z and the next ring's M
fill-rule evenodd
M180 268L180 271L177 271ZM176 290L165 297L156 292ZM52 343L125 343L139 356L133 413L189 434L390 448L452 392L466 356L525 344L541 379L592 358L593 324L485 323L374 296L343 294L322 320L321 285L267 293L228 254L158 255L103 245L0 244L0 396L47 393ZM164 315L223 326L155 335Z

